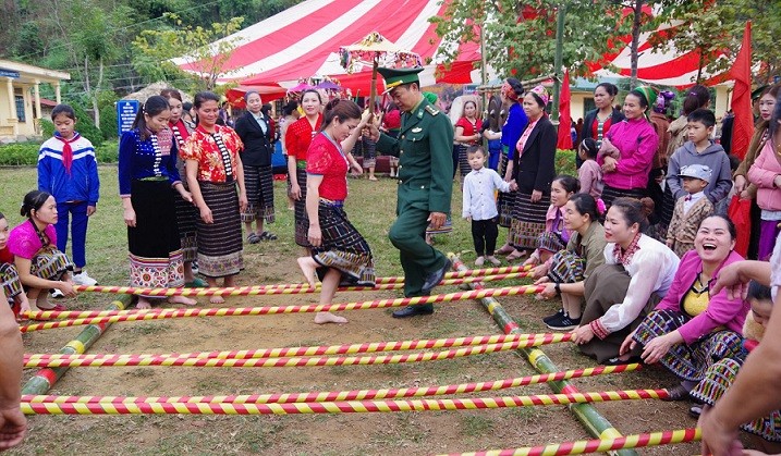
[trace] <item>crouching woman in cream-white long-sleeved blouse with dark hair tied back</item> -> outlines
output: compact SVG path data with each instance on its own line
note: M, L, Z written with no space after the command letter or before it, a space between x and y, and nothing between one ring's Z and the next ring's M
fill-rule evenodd
M605 264L585 283L586 308L572 341L597 362L627 362L621 344L667 294L679 258L646 236L648 220L634 198L617 198L605 218Z

